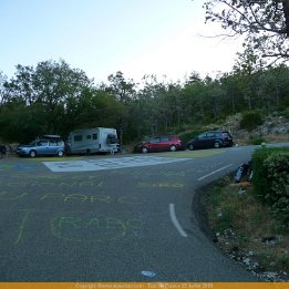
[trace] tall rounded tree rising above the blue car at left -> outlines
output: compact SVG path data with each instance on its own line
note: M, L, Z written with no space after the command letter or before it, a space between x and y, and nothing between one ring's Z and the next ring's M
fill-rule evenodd
M27 107L42 107L47 133L63 133L68 102L91 89L92 81L85 73L71 69L63 60L43 61L37 68L17 65L14 78L4 83L6 102L23 102ZM23 118L22 126L28 120ZM18 130L21 130L21 125ZM41 130L41 131L43 131Z

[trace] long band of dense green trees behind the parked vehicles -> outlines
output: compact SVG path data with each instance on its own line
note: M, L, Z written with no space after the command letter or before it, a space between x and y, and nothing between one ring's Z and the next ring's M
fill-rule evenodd
M288 96L289 68L262 69L246 54L231 73L202 79L194 72L183 83L146 75L136 84L117 72L95 84L62 60L44 61L35 68L18 65L10 80L0 73L0 138L23 143L42 134L66 137L75 128L107 126L122 130L131 142L197 130L237 112L282 111Z

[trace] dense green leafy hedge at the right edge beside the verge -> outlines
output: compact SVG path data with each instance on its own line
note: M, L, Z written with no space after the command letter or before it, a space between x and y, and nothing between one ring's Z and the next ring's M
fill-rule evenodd
M264 148L252 155L256 196L285 227L289 224L289 148Z

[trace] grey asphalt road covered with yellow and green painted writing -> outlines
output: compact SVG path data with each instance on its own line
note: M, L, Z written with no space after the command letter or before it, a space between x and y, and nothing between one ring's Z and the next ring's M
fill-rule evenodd
M1 159L0 280L255 280L192 211L251 149Z

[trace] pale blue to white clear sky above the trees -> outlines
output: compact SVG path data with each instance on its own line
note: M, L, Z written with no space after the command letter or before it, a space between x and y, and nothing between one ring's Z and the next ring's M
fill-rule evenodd
M123 72L182 81L229 72L241 50L215 38L204 0L0 0L0 71L64 60L95 82Z

